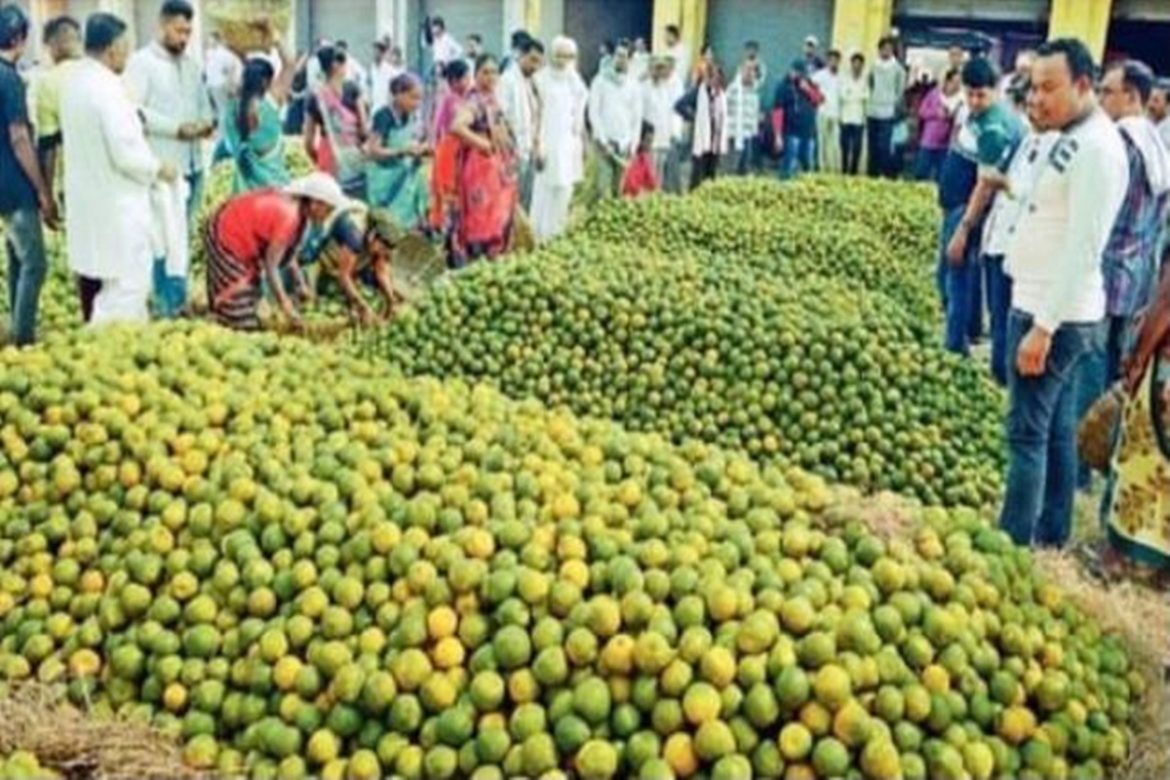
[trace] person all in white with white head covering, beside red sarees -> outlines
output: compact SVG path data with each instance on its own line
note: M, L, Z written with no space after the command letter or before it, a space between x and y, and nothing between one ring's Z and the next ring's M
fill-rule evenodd
M577 43L552 42L551 64L534 77L538 99L532 184L532 233L544 242L569 222L573 185L584 174L585 104L589 90L577 73Z

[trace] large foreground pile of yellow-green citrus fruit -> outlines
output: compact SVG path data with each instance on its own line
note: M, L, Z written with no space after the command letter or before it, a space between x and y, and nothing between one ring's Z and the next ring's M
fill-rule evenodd
M546 340L583 305L546 310ZM498 323L468 338L530 326ZM0 352L0 677L150 719L225 774L1039 780L1124 759L1141 679L1026 551L961 510L883 541L827 525L831 502L796 470L336 350L74 333Z

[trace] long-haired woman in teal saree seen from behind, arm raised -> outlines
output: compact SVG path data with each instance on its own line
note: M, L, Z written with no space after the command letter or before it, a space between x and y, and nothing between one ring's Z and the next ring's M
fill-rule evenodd
M282 187L290 180L284 164L281 106L292 89L297 65L283 50L280 77L262 57L248 60L240 96L232 105L225 141L235 164L233 193Z

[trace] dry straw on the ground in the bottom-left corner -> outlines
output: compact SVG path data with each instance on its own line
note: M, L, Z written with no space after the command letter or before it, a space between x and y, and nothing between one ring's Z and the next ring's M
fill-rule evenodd
M0 698L0 755L15 751L67 780L195 778L173 740L140 723L87 715L35 683Z

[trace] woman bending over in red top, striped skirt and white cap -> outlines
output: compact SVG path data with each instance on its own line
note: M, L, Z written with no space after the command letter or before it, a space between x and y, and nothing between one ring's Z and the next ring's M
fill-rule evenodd
M351 206L337 181L310 173L283 189L257 189L226 202L207 221L207 302L215 319L236 330L259 330L262 281L294 325L301 315L284 289L282 271L291 271L297 292L312 292L297 263L297 249L312 225Z

